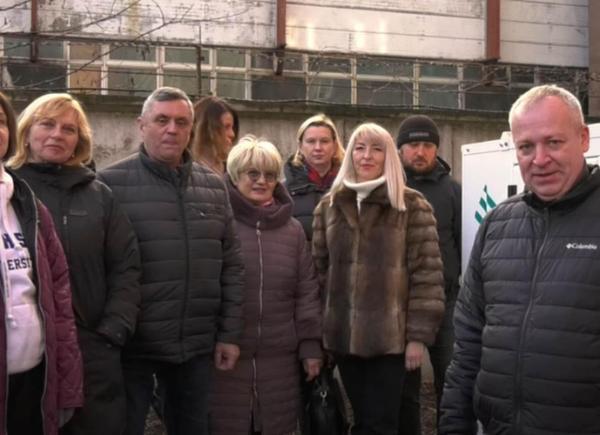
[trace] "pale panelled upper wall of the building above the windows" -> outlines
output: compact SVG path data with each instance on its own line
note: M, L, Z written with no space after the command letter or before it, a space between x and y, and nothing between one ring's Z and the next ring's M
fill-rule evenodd
M30 3L0 33L31 30ZM589 0L502 0L502 62L588 65ZM288 0L287 47L447 60L485 56L486 0ZM273 48L276 1L39 0L45 35Z

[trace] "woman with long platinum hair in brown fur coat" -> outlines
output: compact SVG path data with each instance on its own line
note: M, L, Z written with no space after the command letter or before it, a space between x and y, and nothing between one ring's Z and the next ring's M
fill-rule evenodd
M352 434L396 434L406 370L418 368L444 312L433 210L404 184L391 135L358 126L315 210L324 284L323 345L354 411Z

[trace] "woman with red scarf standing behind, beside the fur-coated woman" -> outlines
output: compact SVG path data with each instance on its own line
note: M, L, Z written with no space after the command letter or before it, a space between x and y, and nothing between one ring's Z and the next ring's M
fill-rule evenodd
M340 169L344 148L335 124L323 114L304 121L296 139L298 149L284 168L285 187L294 200L294 217L310 241L313 211Z

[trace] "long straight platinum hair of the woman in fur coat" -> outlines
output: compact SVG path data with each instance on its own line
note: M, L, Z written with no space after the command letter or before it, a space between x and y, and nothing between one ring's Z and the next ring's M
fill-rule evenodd
M404 204L404 190L406 189L406 175L404 169L400 163L396 144L390 133L380 125L372 122L367 122L356 127L348 147L346 148L346 155L342 161L342 166L338 172L337 177L333 181L330 190L330 199L333 203L335 195L342 190L344 187L344 180L356 182L356 171L354 169L354 163L352 161L352 152L359 139L368 140L370 142L377 142L385 146L385 163L383 165L383 175L385 176L385 183L387 187L387 195L390 200L390 204L393 208L399 211L406 210Z

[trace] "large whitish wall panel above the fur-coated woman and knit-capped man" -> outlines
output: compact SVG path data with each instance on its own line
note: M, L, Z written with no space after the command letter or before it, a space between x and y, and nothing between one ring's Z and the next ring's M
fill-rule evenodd
M484 4L485 0L290 1L287 42L302 50L480 59Z

